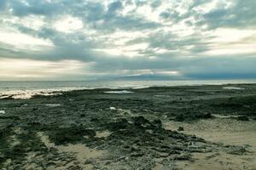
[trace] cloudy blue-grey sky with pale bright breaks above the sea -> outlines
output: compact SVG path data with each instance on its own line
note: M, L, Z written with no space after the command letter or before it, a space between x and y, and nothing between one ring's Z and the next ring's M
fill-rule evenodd
M0 0L0 81L256 78L255 0Z

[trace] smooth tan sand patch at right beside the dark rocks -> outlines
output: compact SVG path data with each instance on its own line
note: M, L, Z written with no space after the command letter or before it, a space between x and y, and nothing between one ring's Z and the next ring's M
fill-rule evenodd
M224 152L194 154L193 161L179 161L178 167L188 170L215 169L256 169L256 121L237 122L236 119L215 118L193 123L166 122L165 128L175 130L184 127L183 133L215 143L235 144L247 147L250 152L234 156Z

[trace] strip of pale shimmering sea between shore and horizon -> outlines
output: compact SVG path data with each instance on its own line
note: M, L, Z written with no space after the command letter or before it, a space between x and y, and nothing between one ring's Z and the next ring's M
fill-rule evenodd
M92 88L148 88L207 84L256 83L256 80L186 80L186 81L0 81L0 99L30 98L35 94L50 95L61 91Z

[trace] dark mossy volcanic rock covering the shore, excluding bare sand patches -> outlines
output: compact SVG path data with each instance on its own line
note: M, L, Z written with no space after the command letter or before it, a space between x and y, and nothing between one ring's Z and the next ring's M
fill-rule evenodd
M256 116L253 85L232 93L221 89L156 87L134 89L135 93L129 95L104 94L108 89L94 89L26 100L1 99L1 111L8 114L0 116L0 169L24 169L26 165L35 165L35 169L82 168L75 163L73 153L60 152L59 146L47 147L38 133L44 133L56 145L79 143L91 150L106 150L108 156L99 162L84 160L97 169L152 169L159 158L169 169L173 161L190 160L192 152L224 150L244 154L245 148L213 144L181 133L182 127L177 132L162 125L169 120L208 119L211 113L241 115L237 119L243 121ZM117 111L110 111L110 106ZM98 132L106 136L101 138ZM31 156L30 161L27 156ZM7 160L11 160L10 165L5 164Z

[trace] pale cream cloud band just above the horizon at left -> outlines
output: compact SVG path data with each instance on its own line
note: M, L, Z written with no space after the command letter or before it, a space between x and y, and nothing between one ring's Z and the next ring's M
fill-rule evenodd
M94 63L79 60L44 61L34 59L0 59L0 78L53 78L86 75Z

